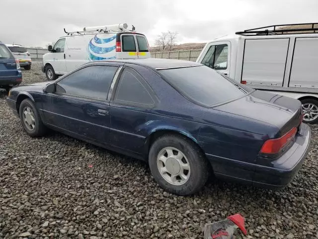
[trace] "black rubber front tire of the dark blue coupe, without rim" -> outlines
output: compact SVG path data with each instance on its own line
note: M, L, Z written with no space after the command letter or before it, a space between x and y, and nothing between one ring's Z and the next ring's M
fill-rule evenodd
M27 107L32 110L33 115L34 115L35 123L34 123L33 129L28 128L28 126L26 125L26 122L24 121L23 110L26 109ZM46 133L47 128L43 124L42 119L40 118L39 113L36 110L36 108L31 100L25 99L21 102L20 109L19 109L19 116L21 119L22 127L24 128L24 130L26 131L26 133L28 135L30 135L32 137L40 137Z

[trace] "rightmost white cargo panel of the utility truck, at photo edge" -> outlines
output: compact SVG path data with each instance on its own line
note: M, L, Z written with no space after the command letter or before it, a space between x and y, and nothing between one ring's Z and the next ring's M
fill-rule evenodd
M296 37L289 87L318 89L318 37Z

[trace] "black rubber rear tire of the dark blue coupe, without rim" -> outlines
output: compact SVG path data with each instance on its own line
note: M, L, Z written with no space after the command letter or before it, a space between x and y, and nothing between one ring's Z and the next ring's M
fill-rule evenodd
M161 176L158 166L157 157L165 147L173 147L186 157L190 164L190 176L182 185L173 185ZM191 195L198 192L206 183L209 177L210 166L198 145L185 136L167 134L160 136L152 145L149 152L150 170L161 188L169 193L180 196Z

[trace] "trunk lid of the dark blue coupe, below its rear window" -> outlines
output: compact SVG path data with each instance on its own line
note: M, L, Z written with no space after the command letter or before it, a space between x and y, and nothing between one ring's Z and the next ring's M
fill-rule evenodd
M289 97L254 91L214 109L275 125L279 128L275 137L280 137L293 127L299 126L301 106L300 101Z

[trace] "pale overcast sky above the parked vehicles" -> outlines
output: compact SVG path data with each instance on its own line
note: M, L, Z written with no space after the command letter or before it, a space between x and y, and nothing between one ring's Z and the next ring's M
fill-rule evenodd
M126 22L147 35L206 42L272 24L318 22L318 0L0 0L0 41L45 46L84 26Z

